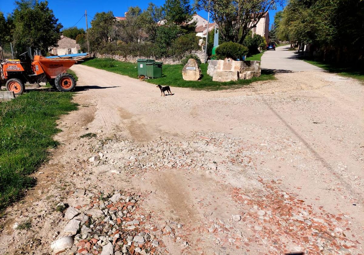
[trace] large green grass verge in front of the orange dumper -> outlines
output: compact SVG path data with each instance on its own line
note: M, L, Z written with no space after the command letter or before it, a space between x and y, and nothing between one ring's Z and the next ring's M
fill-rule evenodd
M60 130L56 120L75 110L73 93L30 91L0 103L0 211L35 185L28 176L48 158Z

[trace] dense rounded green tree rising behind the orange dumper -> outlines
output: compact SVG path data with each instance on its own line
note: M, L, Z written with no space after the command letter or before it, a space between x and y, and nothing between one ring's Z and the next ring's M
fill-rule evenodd
M26 2L33 1L19 2L13 13L13 39L18 53L24 51L25 47L39 48L41 51L56 47L63 26L48 8L48 2L36 1L28 5Z

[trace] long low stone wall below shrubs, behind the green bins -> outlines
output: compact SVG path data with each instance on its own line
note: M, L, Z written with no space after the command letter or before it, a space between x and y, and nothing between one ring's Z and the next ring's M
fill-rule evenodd
M203 61L205 60L205 52L203 51L193 51L191 52L192 54L196 54L201 62L203 63ZM190 54L190 53L188 53ZM187 55L187 54L186 54ZM123 62L131 62L131 63L137 63L138 59L154 59L155 61L158 62L163 62L163 64L181 64L181 60L182 58L175 58L175 57L162 57L162 58L156 58L153 56L120 56L120 55L112 55L112 54L100 54L100 53L96 53L95 57L101 58L101 59L105 59L105 58L110 58L110 59L116 59L119 61L123 61Z

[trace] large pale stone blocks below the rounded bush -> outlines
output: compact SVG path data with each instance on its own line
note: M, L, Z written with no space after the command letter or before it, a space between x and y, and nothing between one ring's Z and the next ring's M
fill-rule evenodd
M235 61L232 59L207 61L207 74L213 81L248 80L261 75L260 61Z

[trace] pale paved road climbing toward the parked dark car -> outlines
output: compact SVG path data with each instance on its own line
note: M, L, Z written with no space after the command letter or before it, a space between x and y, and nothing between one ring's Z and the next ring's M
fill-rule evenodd
M289 45L277 47L275 51L266 51L262 56L261 67L284 71L323 71L323 69L297 59L295 51L289 51Z

